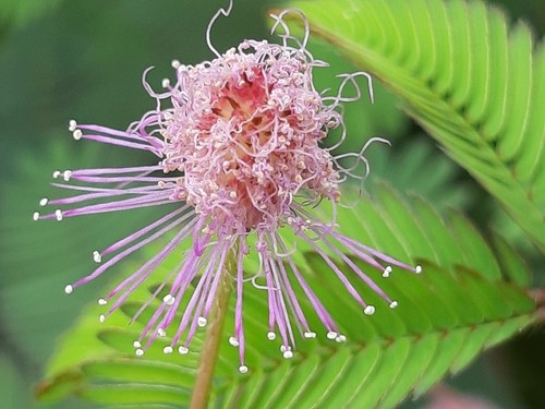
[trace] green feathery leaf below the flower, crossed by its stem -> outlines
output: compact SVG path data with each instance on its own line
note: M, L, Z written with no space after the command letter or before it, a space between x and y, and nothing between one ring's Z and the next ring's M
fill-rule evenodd
M264 292L246 286L244 325L251 373L237 371L238 351L227 342L232 330L228 325L210 407L391 408L411 392L420 395L449 372L462 370L483 349L533 322L533 301L510 281L514 277L520 282L526 274L523 264L512 262L507 270L501 268L459 214L452 213L445 221L426 202L413 197L409 206L385 185L377 188L377 197L339 209L339 224L347 234L407 262L428 260L422 275L395 272L388 279L362 265L399 301L398 309L390 310L354 279L356 289L377 305L375 315L365 316L344 297L343 286L319 256L299 252L298 263L348 341L338 344L325 335L298 339L294 358L284 360L278 341L266 338ZM501 245L502 254L517 260L507 243ZM468 251L472 246L477 251ZM513 274L513 268L521 269L520 274ZM168 270L166 266L162 275ZM161 278L161 274L156 276L159 282ZM149 291L137 289L134 299L105 324L97 318L102 308L92 305L60 344L38 396L77 394L117 407L189 405L204 333L197 334L186 356L164 354L167 337L156 340L143 358L135 357L132 341L147 318L142 316L131 328L126 322ZM299 296L304 299L301 290ZM312 311L308 302L303 301L303 308ZM308 315L311 327L318 329L318 318Z

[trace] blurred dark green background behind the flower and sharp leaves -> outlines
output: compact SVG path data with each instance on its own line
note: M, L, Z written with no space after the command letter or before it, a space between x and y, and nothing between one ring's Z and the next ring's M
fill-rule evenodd
M543 0L489 0L513 19L533 26L543 37ZM92 251L132 230L129 215L32 221L38 201L55 195L53 170L145 164L146 155L92 142L75 142L68 122L125 128L154 107L141 85L142 72L157 89L171 76L170 61L196 63L213 58L205 31L220 0L0 0L0 407L40 408L33 389L44 373L56 340L100 293L98 280L74 294L64 285L90 272ZM266 11L278 1L237 0L229 19L213 32L215 47L225 50L243 38L268 38ZM316 74L318 88L336 88L335 74L353 70L323 45L315 56L332 61ZM332 80L331 80L332 79ZM400 191L416 191L439 209L462 208L480 226L508 226L463 171L401 110L395 97L375 84L376 103L367 100L347 110L350 140L358 149L373 135L392 148L370 149L373 176ZM429 175L426 165L438 163ZM440 164L440 165L439 165ZM141 221L138 221L138 226ZM529 244L513 228L510 239L522 252ZM530 260L534 268L538 260ZM543 277L543 275L542 275ZM543 278L542 278L543 281ZM540 284L540 282L537 282ZM541 282L542 285L544 282ZM522 334L475 362L449 383L463 393L483 397L501 408L545 408L545 334ZM541 386L541 388L540 388ZM422 407L425 400L404 407ZM55 408L83 408L77 400Z

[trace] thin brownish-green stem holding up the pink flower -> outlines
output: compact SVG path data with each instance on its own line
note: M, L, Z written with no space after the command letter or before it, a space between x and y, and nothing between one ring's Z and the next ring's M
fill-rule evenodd
M211 393L214 370L218 360L221 334L227 311L229 310L229 296L231 294L230 272L234 265L232 257L228 258L226 267L221 272L220 282L215 297L215 303L210 311L210 323L206 333L201 362L198 364L197 377L191 397L191 409L206 409Z

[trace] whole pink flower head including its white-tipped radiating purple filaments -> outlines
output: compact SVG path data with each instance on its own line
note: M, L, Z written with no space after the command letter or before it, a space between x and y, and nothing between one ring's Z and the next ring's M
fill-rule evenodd
M421 268L412 268L338 233L335 220L320 221L308 206L325 199L332 204L335 215L336 203L340 200L339 184L354 176L353 169L339 166L341 156L353 156L367 166L362 156L364 149L341 156L334 156L332 152L344 139L340 104L360 98L358 76L363 75L368 81L371 77L361 72L344 75L336 96L318 93L312 81L313 70L326 64L306 50L306 21L303 41L290 35L282 19L288 12L300 13L293 10L272 16L276 20L274 31L280 26L284 33L280 35L280 45L245 40L220 55L211 46L209 34L218 15L227 15L229 11L220 10L208 26L207 39L216 55L214 60L196 65L173 61L175 81L165 80L162 93L155 93L147 84L146 71L144 86L157 100L157 108L146 112L140 121L125 131L70 122L76 140L148 151L159 157L159 163L145 167L57 171L53 178L64 182L53 185L77 194L41 200L40 205L59 208L45 215L35 213L34 219L61 220L178 203L174 210L164 212L155 222L102 251L95 251L94 260L101 265L87 277L66 286L65 292L71 293L128 255L169 233L170 240L160 252L99 300L102 305L111 301L107 313L100 316L104 321L179 244L192 238L193 246L181 255L181 263L170 279L154 294L155 298L168 289L164 302L134 342L136 354L143 354L153 340L165 336L167 330L171 333L171 344L165 352L178 348L180 353L187 353L197 328L207 323L220 277L231 274L237 304L234 334L229 342L239 348L239 369L245 373L243 287L252 277L261 277L265 282L259 288L268 297L267 337L272 340L280 336L284 358L293 356L294 327L304 338L316 337L295 297L293 281L308 298L326 328L327 338L344 340L294 264L290 250L293 243L284 242L281 229L291 229L298 240L306 242L327 263L331 274L341 280L365 314L373 314L375 308L363 300L330 255L344 262L391 308L397 306L397 302L344 252L379 268L385 277L390 274L391 265L416 273ZM356 89L354 97L342 96L347 84ZM323 147L328 132L337 128L342 134L340 142L329 148ZM257 254L259 269L249 277L243 270L243 261L251 252ZM237 270L223 273L229 258L235 262ZM186 291L191 282L196 282L192 292ZM184 297L187 304L181 320L177 320L175 313Z

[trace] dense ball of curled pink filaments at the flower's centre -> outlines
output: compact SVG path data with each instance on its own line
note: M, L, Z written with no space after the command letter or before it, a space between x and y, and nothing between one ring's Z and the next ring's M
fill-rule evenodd
M246 40L209 63L178 67L165 171L183 172L179 195L210 216L210 229L274 230L302 188L339 199L339 173L318 145L339 113L314 89L304 57Z

